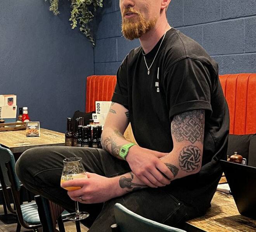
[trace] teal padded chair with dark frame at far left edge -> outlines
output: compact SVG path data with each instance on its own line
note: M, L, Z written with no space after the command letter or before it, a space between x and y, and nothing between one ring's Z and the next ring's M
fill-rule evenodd
M0 176L1 176L0 181L3 188L3 196L5 200L9 199L8 191L7 191L8 187L11 189L11 192L12 192L15 210L10 205L7 205L7 208L11 213L14 213L17 215L18 222L17 222L16 232L21 231L21 226L26 229L34 230L35 232L38 231L38 228L42 227L40 218L43 218L43 217L45 217L44 225L47 227L47 229L43 231L54 232L53 223L50 222L50 216L47 215L46 214L47 211L45 211L47 209L47 207L45 207L46 200L43 199L43 205L41 207L43 213L38 213L38 205L36 204L35 201L21 204L21 201L20 201L21 184L15 173L14 155L9 149L3 148L1 146L0 146ZM9 200L7 201L9 202ZM69 213L67 211L64 211L62 213L61 218L65 218L66 215L68 214ZM58 222L59 221L60 220L58 220ZM62 230L62 231L65 231L65 230Z

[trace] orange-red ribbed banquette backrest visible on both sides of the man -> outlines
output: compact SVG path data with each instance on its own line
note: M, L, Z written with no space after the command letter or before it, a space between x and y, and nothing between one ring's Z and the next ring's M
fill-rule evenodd
M256 74L220 75L230 111L230 134L256 133ZM86 82L86 112L95 111L95 101L111 101L116 76L93 75Z

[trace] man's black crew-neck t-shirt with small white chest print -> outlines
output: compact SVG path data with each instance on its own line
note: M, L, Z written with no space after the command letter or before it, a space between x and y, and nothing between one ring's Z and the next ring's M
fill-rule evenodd
M162 38L145 55L150 67ZM206 210L221 176L229 130L228 107L218 64L193 39L171 28L147 73L142 47L132 49L117 73L113 102L129 110L134 137L141 147L171 152L171 121L176 114L205 110L202 168L164 187L177 198Z

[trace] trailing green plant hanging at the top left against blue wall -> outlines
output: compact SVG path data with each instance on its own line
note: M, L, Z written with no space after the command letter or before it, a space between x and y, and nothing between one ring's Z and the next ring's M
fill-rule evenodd
M47 0L45 0L46 2ZM50 7L49 10L54 13L54 15L58 15L60 12L59 8L59 0L49 0ZM71 17L69 21L71 21L72 29L77 26L77 21L79 20L80 31L86 35L92 45L95 46L95 39L90 34L90 29L88 28L88 22L92 21L94 15L88 9L88 7L93 6L94 11L97 11L97 7L103 7L103 0L71 0Z

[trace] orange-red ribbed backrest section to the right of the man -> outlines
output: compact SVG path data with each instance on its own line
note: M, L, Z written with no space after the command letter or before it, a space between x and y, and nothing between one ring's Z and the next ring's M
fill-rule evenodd
M256 133L256 74L220 75L230 113L230 134Z

